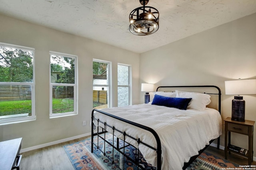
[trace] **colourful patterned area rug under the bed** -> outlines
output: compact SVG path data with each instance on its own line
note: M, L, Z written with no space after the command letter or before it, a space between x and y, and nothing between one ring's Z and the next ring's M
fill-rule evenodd
M112 135L107 135L106 139L110 143L113 142ZM124 170L137 170L136 165L133 162L124 158L124 156L117 150L113 150L110 145L105 143L104 147L104 142L101 139L97 141L97 138L95 138L94 142L99 143L100 149L105 149L106 156L104 156L104 154L102 154L102 152L95 146L93 153L91 153L91 138L64 146L64 150L70 158L75 170L118 170L116 165L112 164L112 162L107 158L107 156L112 158L113 155L113 161L121 169L123 169L124 162ZM116 138L114 138L114 143L116 145ZM122 147L127 145L127 143L120 140L119 145ZM130 158L135 159L136 154L138 153L136 153L136 149L134 147L128 146L125 149L125 154ZM148 164L140 153L138 160L136 161L138 161L139 164L147 170L156 169L151 164ZM223 168L235 167L239 167L239 165L209 154L208 152L203 152L194 162L192 162L192 164L190 164L187 170L222 170Z

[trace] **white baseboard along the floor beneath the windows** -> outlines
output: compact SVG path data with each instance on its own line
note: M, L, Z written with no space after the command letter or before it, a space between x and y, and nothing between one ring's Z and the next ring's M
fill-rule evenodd
M55 145L55 144L62 143L62 142L67 142L67 141L71 141L71 140L74 140L74 139L78 139L80 137L86 137L86 136L90 136L90 135L91 135L91 133L85 133L85 134L82 134L82 135L78 135L78 136L74 136L74 137L69 137L69 138L66 138L66 139L58 140L58 141L44 143L42 145L37 145L37 146L34 146L34 147L24 148L24 149L20 150L20 153L27 152L27 151L34 150L34 149L40 149L40 148L43 148L43 147L48 147L48 146L51 146L51 145Z

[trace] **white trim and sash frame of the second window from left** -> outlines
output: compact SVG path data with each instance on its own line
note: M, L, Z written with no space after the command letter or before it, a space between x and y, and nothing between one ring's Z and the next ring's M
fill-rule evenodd
M50 51L50 55L49 55L50 58L51 58L51 55L57 55L57 56L75 59L75 83L74 84L51 83L51 62L50 62L50 113L49 113L50 118L78 115L78 102L77 102L78 101L78 56ZM65 113L52 113L52 87L53 86L73 86L74 87L74 111L65 112Z

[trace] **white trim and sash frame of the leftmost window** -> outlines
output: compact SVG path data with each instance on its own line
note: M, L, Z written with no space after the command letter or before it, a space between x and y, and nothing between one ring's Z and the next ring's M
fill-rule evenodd
M15 48L21 50L27 50L33 52L33 82L0 82L1 85L30 85L31 86L31 116L22 116L22 117L11 117L7 119L0 119L0 125L8 125L12 123L21 123L26 121L36 120L36 109L35 109L35 49L31 47L24 47L20 45L13 45L7 43L0 43L2 47Z

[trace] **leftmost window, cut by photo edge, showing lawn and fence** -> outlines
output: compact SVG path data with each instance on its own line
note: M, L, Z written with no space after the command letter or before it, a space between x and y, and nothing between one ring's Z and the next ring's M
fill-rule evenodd
M0 124L35 120L34 49L0 43Z

